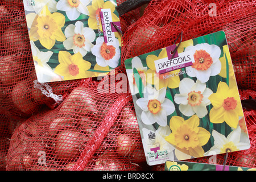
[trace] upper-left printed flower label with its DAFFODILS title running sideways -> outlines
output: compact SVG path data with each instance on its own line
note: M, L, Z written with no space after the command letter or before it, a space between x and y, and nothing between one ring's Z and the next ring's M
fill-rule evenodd
M121 65L114 0L23 0L39 82L105 76Z

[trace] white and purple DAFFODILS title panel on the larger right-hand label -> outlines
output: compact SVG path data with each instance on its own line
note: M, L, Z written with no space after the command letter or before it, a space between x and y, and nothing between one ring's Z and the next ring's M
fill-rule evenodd
M185 51L179 54L175 52L172 58L172 51L174 51L175 47L176 45L172 45L166 48L168 57L155 60L156 73L162 74L175 69L189 67L195 62L192 51Z

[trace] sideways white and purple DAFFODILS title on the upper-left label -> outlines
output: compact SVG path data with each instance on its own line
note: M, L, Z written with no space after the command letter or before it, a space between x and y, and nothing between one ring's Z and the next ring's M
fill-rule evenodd
M104 42L110 46L114 44L115 33L117 30L114 28L114 23L118 28L121 29L120 22L113 22L112 14L110 9L101 9L100 11L101 16L101 24L102 24L102 31L104 35Z

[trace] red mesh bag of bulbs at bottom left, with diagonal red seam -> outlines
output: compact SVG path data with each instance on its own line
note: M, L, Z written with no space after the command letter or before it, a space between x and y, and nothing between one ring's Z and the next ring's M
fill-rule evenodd
M23 122L11 137L6 169L141 169L146 158L133 101L118 73L124 76L115 70L78 86L56 109Z

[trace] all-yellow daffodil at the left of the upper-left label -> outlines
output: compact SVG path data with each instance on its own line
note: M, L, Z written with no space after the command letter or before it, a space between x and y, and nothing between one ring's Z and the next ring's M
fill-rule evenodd
M44 6L39 15L36 15L30 29L30 40L39 40L43 47L51 49L56 40L63 42L66 38L61 27L65 24L65 16L61 13L50 13Z

